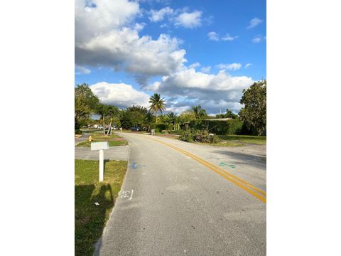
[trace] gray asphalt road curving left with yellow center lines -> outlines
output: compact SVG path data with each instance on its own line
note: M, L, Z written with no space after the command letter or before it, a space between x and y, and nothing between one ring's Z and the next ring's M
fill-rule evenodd
M141 134L97 255L266 255L264 146Z

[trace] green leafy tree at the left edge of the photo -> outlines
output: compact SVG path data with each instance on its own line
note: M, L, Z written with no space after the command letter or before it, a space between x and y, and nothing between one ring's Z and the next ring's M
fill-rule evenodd
M99 99L89 85L83 83L75 87L75 122L84 123L90 118L90 114L95 112Z

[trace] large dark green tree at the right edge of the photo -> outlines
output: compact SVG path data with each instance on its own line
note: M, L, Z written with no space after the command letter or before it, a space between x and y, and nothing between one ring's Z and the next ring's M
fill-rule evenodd
M244 89L240 104L244 107L239 112L239 119L260 136L266 129L266 80L254 82L249 89Z

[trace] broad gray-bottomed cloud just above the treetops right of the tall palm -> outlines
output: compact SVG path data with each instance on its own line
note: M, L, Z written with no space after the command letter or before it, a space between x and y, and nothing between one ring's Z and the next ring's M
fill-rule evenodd
M183 98L181 101L169 102L168 107L200 104L209 113L215 113L220 107L225 106L235 111L240 110L242 90L253 82L249 77L232 76L224 70L217 74L206 74L189 68L164 76L150 88L169 97Z

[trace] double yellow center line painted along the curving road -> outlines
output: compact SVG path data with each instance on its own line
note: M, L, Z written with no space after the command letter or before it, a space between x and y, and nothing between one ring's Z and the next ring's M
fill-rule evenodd
M147 138L147 139L151 139L151 138ZM255 196L256 198L258 198L262 202L266 203L266 198L264 197L264 196L266 196L266 193L264 191L261 191L259 188L252 186L247 181L243 181L241 178L238 178L237 176L230 174L228 171L225 171L224 169L221 169L220 167L217 167L217 166L205 161L204 159L200 159L199 157L197 157L193 154L190 154L188 151L185 151L185 150L180 149L176 146L173 146L172 144L168 144L167 142L161 142L158 139L151 139L151 140L153 140L155 142L159 142L159 143L164 144L166 146L170 146L172 149L175 149L175 150L180 151L181 153L183 153L187 156L190 156L190 158L192 158L195 161L199 162L200 164L206 166L208 169L215 171L217 174L220 174L220 176L226 178L228 181L231 181L235 185L237 185L240 188L243 188L245 191L249 192L252 196ZM244 186L243 184L246 186ZM254 189L254 191L257 191L258 193L252 191L250 188ZM259 195L259 193L261 193L264 196Z

